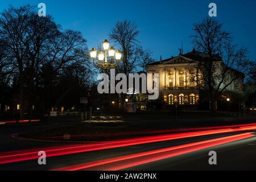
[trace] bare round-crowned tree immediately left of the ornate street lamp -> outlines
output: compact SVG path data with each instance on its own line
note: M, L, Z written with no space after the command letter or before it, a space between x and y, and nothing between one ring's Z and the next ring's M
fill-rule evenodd
M80 71L74 73L75 76L79 73L81 75L79 76L80 81L88 86L89 82L93 79L93 70L90 69L88 48L86 47L86 40L82 38L81 32L72 30L60 32L60 34L47 45L41 55L43 67L40 68L40 72L43 72L43 77L41 77L43 80L40 86L43 92L40 96L40 103L43 103L43 107L49 111L51 106L57 106L64 96L74 89L72 82L69 81L65 84L65 88L56 95L56 101L53 103L49 101L48 98L44 97L52 97L51 94L55 92L55 86L59 84L64 75L67 73L71 74L74 71ZM84 71L84 73L82 73L82 71ZM84 77L82 77L82 75ZM51 104L46 102L50 102Z

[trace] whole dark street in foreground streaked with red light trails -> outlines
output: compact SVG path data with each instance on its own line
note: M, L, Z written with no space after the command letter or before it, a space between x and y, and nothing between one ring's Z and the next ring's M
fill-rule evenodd
M1 128L0 170L255 169L254 123L100 143L43 143L9 138L14 130L19 133L34 127ZM46 151L46 165L38 164L39 151ZM209 165L209 151L217 152L217 165Z

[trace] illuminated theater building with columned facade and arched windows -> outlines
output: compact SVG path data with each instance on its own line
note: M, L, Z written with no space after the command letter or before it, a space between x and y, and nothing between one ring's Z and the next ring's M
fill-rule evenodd
M198 63L199 61L207 61L209 56L205 53L197 52L195 49L192 52L170 59L160 60L156 63L147 65L147 73L159 73L159 100L162 101L164 108L178 105L187 109L197 109L200 102L207 101L206 93L199 86L197 78L199 76ZM222 63L219 56L216 56L215 63ZM191 81L193 80L193 81ZM238 87L243 86L243 78L234 81L228 90L238 91Z

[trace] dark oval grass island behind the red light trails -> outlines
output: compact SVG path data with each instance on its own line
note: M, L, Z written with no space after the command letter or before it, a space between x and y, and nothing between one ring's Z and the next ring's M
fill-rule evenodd
M155 130L145 130L140 127L134 129L129 126L63 126L38 129L32 133L19 134L19 137L49 141L63 141L65 140L64 135L71 135L71 141L91 142L143 137L152 135L153 131Z

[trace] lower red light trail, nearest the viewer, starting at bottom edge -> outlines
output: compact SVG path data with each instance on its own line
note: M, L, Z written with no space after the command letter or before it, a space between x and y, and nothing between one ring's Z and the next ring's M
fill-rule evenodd
M183 144L181 146L162 148L154 151L147 151L112 159L79 164L76 166L54 169L53 171L76 171L81 169L93 171L117 171L250 137L255 137L255 135L253 135L253 133L232 135L228 137L204 140L201 142Z

